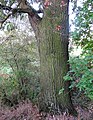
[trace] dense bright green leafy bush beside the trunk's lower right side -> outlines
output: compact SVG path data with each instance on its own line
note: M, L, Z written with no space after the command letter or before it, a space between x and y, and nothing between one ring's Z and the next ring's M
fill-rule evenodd
M93 54L87 53L69 60L70 71L64 77L71 81L70 88L79 88L86 96L93 99Z

